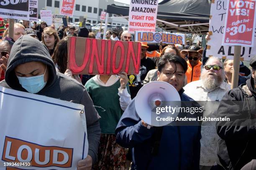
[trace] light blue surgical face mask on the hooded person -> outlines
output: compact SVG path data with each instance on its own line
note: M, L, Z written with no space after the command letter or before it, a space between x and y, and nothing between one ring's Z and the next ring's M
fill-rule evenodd
M47 69L47 65L46 65L46 69ZM43 75L37 75L32 77L17 76L20 82L20 85L30 93L38 93L46 85L46 82L44 82L44 75L46 73L46 69Z

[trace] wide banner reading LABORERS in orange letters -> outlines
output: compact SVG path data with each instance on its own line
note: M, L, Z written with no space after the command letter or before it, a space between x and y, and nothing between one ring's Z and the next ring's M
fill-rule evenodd
M166 44L186 44L186 37L184 34L135 31L135 41L141 41L141 42L162 41L163 43L166 43Z

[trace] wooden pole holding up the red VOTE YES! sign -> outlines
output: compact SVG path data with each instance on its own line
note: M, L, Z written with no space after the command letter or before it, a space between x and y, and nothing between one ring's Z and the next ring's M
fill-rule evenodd
M235 45L231 89L238 87L241 45Z

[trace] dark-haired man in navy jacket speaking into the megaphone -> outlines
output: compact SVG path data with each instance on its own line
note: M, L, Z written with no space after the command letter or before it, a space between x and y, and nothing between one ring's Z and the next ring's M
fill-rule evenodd
M173 94L177 93L181 101L193 101L183 93L187 71L187 62L183 58L166 53L159 58L157 67L157 80L171 84L175 88ZM153 91L157 93L157 89L159 88ZM151 91L147 92L152 93ZM141 98L139 95L143 94L139 92L131 101L115 130L116 142L123 147L132 148L131 169L199 170L201 127L148 125L137 112L135 103L136 98ZM141 108L147 109L146 107L141 105ZM151 112L148 115L150 117Z

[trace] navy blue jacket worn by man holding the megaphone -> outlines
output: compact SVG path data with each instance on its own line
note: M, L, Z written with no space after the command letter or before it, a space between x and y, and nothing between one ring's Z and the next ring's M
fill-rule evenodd
M183 89L182 89L183 90ZM193 101L185 94L182 101ZM116 141L132 148L132 170L199 170L200 126L164 126L158 155L151 155L152 135L135 109L135 98L126 108L115 130Z

